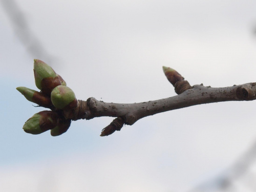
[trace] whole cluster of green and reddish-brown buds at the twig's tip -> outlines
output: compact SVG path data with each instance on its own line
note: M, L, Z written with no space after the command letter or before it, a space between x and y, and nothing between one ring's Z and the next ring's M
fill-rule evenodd
M16 88L31 102L49 108L52 111L41 111L29 118L23 130L30 134L41 134L51 130L52 136L65 133L74 117L77 106L75 93L67 83L44 61L34 59L34 77L40 92L26 88Z

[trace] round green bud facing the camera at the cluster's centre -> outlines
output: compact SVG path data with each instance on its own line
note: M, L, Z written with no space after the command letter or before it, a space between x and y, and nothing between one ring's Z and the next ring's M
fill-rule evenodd
M71 110L76 108L75 93L67 86L57 86L52 90L51 100L56 109Z

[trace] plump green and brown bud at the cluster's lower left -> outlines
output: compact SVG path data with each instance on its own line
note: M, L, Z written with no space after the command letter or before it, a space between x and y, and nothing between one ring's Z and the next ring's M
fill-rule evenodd
M23 130L30 134L41 134L57 126L58 114L53 111L41 111L29 118Z

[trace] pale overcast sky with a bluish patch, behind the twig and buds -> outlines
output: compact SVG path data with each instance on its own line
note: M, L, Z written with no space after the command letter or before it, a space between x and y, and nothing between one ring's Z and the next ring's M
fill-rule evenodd
M45 109L15 88L36 89L34 58L83 100L174 96L162 66L192 85L255 82L255 1L0 2L1 191L183 192L222 175L254 143L255 101L165 112L108 137L99 135L110 117L30 135L23 124Z

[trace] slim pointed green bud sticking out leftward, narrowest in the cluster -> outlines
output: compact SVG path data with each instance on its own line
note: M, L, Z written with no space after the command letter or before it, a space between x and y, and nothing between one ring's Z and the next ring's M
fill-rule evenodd
M51 98L44 93L40 93L26 87L17 87L16 90L23 94L26 99L38 104L39 106L44 106L45 108L51 108L53 106Z

